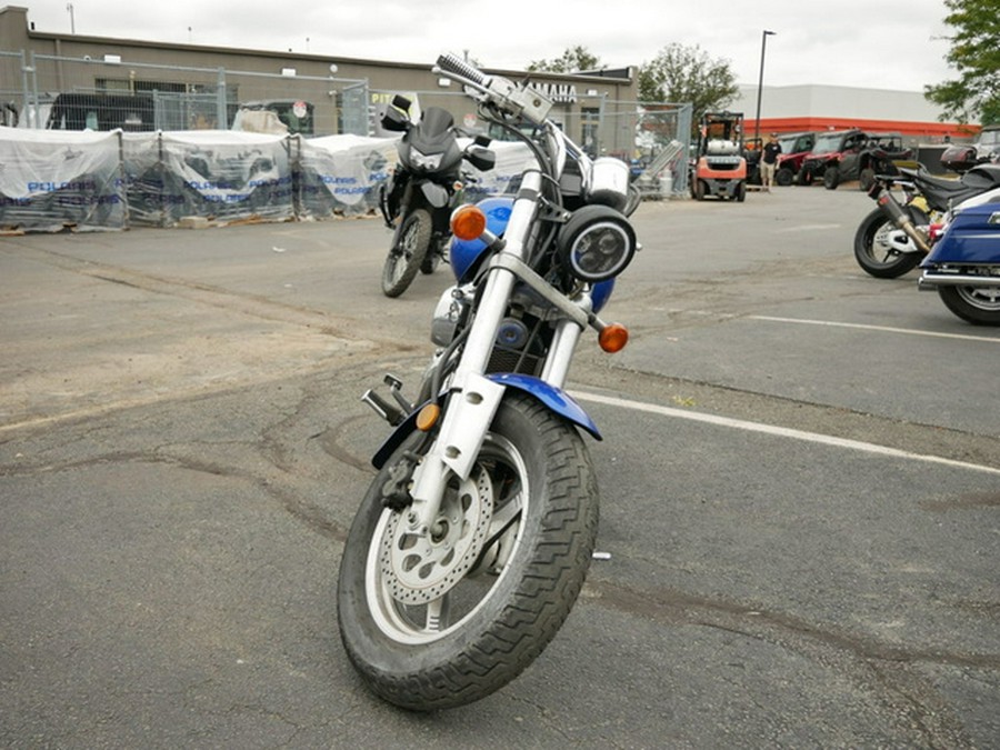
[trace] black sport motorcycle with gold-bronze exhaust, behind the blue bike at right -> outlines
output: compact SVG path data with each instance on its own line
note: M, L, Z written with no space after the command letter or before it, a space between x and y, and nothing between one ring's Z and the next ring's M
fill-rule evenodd
M903 201L892 193L902 189ZM894 279L917 268L928 253L928 227L952 206L1000 186L1000 167L974 166L960 179L930 174L923 167L879 174L868 194L879 204L854 232L854 258L868 273Z

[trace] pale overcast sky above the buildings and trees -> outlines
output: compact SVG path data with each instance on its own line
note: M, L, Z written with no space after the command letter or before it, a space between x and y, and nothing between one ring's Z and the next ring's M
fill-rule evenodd
M0 0L3 4L3 0ZM583 46L609 68L699 46L757 84L921 91L956 73L942 0L21 0L39 31L428 66L439 52L523 69ZM70 12L69 7L72 7Z

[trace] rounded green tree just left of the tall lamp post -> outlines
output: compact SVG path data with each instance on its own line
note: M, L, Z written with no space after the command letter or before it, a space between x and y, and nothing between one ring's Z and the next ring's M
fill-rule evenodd
M723 109L739 93L728 60L713 60L699 46L668 44L651 62L639 67L642 101L691 102L694 119Z

